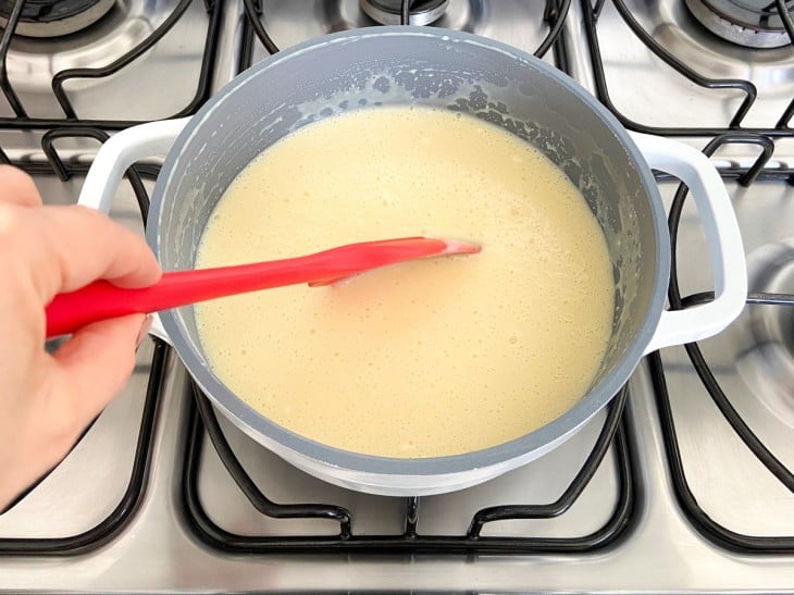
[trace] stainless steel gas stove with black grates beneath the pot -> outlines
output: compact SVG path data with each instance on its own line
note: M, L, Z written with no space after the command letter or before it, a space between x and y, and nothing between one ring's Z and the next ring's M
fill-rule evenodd
M0 591L794 592L786 5L0 2L0 160L30 172L48 202L77 200L109 135L194 113L270 53L410 21L542 55L630 129L709 154L736 210L750 280L733 325L648 356L612 405L557 450L422 498L353 493L298 471L216 417L152 338L66 459L0 515ZM131 169L111 209L138 233L160 163ZM657 178L673 213L670 303L708 300L694 208L674 179Z

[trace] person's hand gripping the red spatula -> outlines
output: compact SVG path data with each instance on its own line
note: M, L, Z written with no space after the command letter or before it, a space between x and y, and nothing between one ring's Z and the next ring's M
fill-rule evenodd
M0 511L58 464L123 387L142 314L90 324L45 350L45 307L98 278L145 287L161 275L146 243L84 207L42 206L33 179L0 165Z

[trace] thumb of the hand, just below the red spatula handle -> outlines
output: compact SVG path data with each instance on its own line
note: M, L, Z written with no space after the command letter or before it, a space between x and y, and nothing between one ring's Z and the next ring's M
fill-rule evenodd
M88 324L54 354L61 377L70 385L71 408L85 423L98 416L122 389L135 367L135 351L150 324L131 314Z

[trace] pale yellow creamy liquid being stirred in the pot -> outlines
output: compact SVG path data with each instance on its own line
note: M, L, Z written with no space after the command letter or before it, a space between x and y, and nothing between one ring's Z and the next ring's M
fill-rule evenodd
M556 166L479 120L382 108L300 129L229 186L197 266L413 235L483 251L201 303L216 374L298 434L388 457L494 446L570 409L611 330L606 243Z

